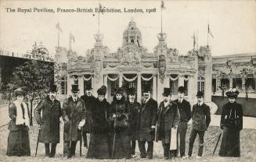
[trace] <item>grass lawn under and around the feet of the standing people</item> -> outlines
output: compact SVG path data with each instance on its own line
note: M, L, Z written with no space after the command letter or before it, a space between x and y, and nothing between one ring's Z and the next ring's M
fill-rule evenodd
M186 153L188 150L188 143L189 143L189 134L190 134L189 127L188 134L186 136ZM35 125L30 129L29 135L30 135L30 141L31 141L31 157L8 157L5 155L6 148L7 148L7 138L9 134L9 130L7 129L7 126L0 129L0 161L45 161L45 162L51 162L51 161L99 161L99 160L90 160L86 159L86 152L87 150L85 148L82 149L82 157L79 156L79 142L77 145L76 150L76 157L73 159L67 160L66 158L63 158L63 141L61 140L60 143L57 145L56 149L56 157L55 158L49 158L44 157L45 155L45 147L44 144L39 143L38 146L38 156L34 157L35 153L35 147L36 147L36 141L38 138L38 126ZM63 125L61 125L61 135L60 139L63 139ZM241 144L241 157L240 158L234 158L234 157L218 157L218 150L220 143L218 143L218 148L215 152L215 156L212 157L213 150L215 148L215 143L217 142L218 135L221 132L221 130L218 127L209 127L207 132L204 136L204 153L203 157L200 160L197 160L195 157L197 155L197 145L198 141L196 140L194 144L193 149L193 155L190 159L183 160L182 158L178 157L171 161L220 161L220 162L229 162L229 161L247 161L252 162L256 161L256 130L254 129L244 129L240 132L240 144ZM138 144L136 145L136 154L138 157L133 158L132 160L100 160L100 161L146 161L146 159L140 159L139 158L139 150L138 150ZM148 161L148 160L147 160ZM163 158L163 148L161 146L161 142L154 143L154 152L153 152L153 160L150 161L166 161Z

